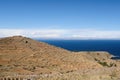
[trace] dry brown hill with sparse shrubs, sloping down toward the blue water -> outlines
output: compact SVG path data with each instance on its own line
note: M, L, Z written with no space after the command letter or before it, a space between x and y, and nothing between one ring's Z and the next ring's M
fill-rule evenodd
M97 76L111 77L120 67L119 60L112 60L112 56L108 52L71 52L22 36L6 37L0 39L0 75L96 76L97 72Z

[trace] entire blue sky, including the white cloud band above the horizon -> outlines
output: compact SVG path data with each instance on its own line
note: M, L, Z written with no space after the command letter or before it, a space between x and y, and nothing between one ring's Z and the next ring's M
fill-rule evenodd
M0 37L120 39L120 0L0 0Z

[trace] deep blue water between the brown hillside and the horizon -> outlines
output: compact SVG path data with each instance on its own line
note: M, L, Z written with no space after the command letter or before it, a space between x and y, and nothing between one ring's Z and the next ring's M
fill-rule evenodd
M120 40L38 40L70 51L107 51L120 56Z

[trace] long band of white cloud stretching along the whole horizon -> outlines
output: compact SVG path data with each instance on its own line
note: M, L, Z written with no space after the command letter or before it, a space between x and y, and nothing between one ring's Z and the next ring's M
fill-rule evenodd
M0 37L22 35L41 39L120 39L120 31L94 29L0 29Z

